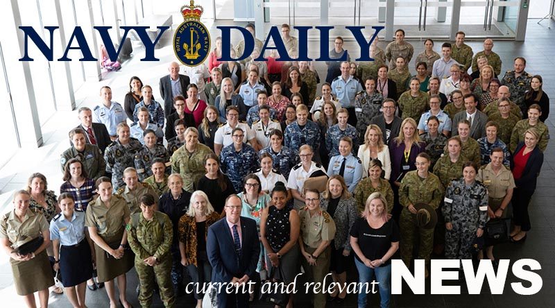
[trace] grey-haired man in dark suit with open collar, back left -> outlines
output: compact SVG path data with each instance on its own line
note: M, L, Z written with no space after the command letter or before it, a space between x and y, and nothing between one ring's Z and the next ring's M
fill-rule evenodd
M160 95L164 99L164 117L176 112L173 108L173 98L181 95L187 98L187 86L191 83L189 77L179 74L177 62L171 62L168 67L169 75L160 78Z

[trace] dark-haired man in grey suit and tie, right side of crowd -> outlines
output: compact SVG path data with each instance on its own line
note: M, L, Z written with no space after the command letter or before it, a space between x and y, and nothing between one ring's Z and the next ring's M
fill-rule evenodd
M453 117L452 127L459 126L459 122L468 120L470 122L470 138L478 140L481 137L486 137L486 123L488 123L488 116L476 109L478 99L476 94L469 93L464 96L464 106L466 110L461 111ZM458 130L453 130L453 136L459 135Z

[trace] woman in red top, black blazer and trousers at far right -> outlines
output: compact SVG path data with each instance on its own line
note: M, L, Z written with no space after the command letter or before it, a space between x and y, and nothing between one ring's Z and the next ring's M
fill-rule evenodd
M524 132L524 142L518 144L515 154L511 157L511 170L513 170L516 185L511 199L515 224L511 232L513 243L524 241L526 232L531 228L528 205L536 190L536 180L543 164L543 153L538 148L539 139L538 132L529 128Z

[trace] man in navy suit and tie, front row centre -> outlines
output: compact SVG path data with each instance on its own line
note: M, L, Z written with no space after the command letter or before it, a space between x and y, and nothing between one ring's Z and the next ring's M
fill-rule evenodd
M256 222L241 217L241 198L231 195L225 200L225 217L208 228L206 252L212 265L212 283L223 285L218 295L218 307L248 307L249 280L256 275L260 242ZM242 286L230 293L228 284Z

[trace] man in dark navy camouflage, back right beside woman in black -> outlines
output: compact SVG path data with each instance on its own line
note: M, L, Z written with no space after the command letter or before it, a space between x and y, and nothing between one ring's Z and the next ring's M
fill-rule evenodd
M531 89L530 81L532 76L524 69L526 68L526 59L522 57L515 58L513 71L506 71L505 76L501 80L502 85L509 87L511 93L511 101L520 107L522 113L526 112L526 104L524 103L524 94Z

